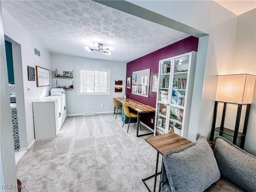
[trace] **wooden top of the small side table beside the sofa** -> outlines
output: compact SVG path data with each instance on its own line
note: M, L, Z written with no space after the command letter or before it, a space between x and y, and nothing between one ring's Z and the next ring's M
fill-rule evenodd
M148 137L145 140L162 155L168 150L177 150L191 143L174 132Z

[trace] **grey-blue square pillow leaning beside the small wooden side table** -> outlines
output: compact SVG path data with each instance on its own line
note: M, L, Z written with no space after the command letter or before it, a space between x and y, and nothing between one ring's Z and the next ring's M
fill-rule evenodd
M183 148L167 151L163 165L162 192L204 191L220 178L213 151L204 136Z

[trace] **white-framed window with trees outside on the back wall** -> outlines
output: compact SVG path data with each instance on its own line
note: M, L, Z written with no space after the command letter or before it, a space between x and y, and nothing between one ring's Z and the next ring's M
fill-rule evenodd
M76 66L77 95L110 95L110 69Z

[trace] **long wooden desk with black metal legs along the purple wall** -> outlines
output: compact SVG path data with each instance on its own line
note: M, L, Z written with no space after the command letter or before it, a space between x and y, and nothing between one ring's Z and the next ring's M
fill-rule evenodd
M129 98L116 98L116 100L118 100L120 103L126 104L128 107L137 111L137 113L138 113L137 122L139 122L139 114L140 113L150 113L150 112L156 111L156 108L154 108L152 106L140 103L138 101L135 101L135 100L132 100ZM154 133L146 133L146 134L139 135L139 123L137 123L137 134L136 134L137 137L150 135L150 134L154 134Z

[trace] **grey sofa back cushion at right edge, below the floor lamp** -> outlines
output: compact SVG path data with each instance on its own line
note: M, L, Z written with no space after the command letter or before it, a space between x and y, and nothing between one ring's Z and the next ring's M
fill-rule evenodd
M256 190L256 157L217 136L214 156L220 174L246 191Z

